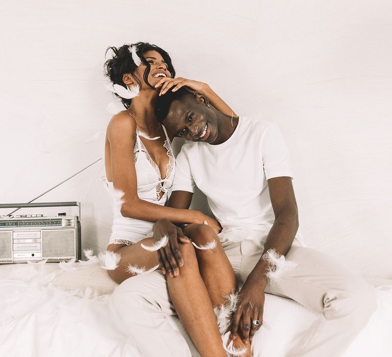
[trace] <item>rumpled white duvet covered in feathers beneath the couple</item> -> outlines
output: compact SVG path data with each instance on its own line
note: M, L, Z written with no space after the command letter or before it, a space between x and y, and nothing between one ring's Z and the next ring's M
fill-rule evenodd
M43 266L31 264L0 280L0 356L140 356L138 341L122 333L126 328L119 328L108 313L110 295L97 296L89 287L55 287L58 264L52 273ZM392 285L376 289L379 307L346 357L392 356ZM283 357L316 318L295 301L266 294L268 329L260 329L254 339L255 357Z

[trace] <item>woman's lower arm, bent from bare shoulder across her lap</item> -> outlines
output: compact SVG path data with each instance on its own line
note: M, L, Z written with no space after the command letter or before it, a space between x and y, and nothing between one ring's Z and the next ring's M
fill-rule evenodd
M121 215L149 222L167 219L174 223L203 223L206 216L194 210L157 205L137 195L137 176L133 149L136 122L127 113L116 114L107 129L113 186L124 192Z

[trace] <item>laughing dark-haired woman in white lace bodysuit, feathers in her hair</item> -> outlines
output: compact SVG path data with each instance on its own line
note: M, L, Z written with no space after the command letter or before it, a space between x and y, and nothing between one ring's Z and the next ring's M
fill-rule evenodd
M126 109L112 117L105 142L108 188L114 195L124 193L107 247L120 260L108 274L121 283L137 273L161 269L171 301L199 353L226 356L213 306L223 304L235 289L234 272L216 236L218 222L199 211L165 207L175 172L173 136L156 120L154 103L167 90L187 86L206 95L219 111L233 112L205 83L174 78L170 57L160 47L138 42L109 48L113 58L105 63L105 72ZM180 228L165 245L167 238L152 233L159 219L190 223L184 234L193 243L212 247L215 241L215 247L194 249ZM154 246L158 253L152 251Z

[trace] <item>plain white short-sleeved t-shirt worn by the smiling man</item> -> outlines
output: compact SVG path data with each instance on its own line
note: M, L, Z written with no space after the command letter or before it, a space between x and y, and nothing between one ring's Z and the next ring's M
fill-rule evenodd
M172 191L197 186L223 230L222 241L265 241L275 220L267 180L292 177L286 143L278 125L239 117L222 144L187 142L177 157ZM293 244L304 245L300 231Z

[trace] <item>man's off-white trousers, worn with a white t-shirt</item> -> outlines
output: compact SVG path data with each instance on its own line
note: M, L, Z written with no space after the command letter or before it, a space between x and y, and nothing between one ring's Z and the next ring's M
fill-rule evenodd
M223 246L241 287L264 248L252 240ZM293 245L286 260L298 265L284 271L276 282L268 282L265 293L293 299L320 313L287 356L341 355L376 310L374 287L315 249ZM142 356L198 355L193 352L191 342L183 337L186 334L181 334L173 325L172 317L176 313L160 271L134 276L121 283L109 307L121 328L133 335Z

